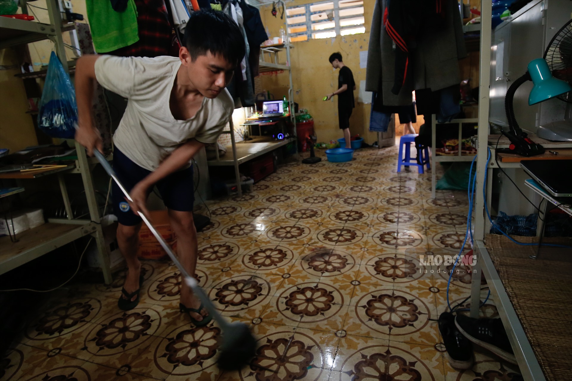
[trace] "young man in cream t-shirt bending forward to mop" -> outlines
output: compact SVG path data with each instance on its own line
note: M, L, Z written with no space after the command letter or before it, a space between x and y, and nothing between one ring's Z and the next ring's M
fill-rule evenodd
M193 13L185 28L186 46L179 57L114 57L85 55L76 66L78 125L76 140L89 155L102 149L92 124L93 80L128 98L113 136L113 168L128 189L127 202L113 183L117 242L128 272L118 306L130 310L139 302L141 264L137 258L141 218L154 186L168 208L177 234L177 254L189 274L197 264L197 232L193 223L193 169L190 160L206 144L215 143L232 117L234 102L225 89L245 55L239 26L218 11ZM211 319L190 288L181 286L181 312L194 324Z

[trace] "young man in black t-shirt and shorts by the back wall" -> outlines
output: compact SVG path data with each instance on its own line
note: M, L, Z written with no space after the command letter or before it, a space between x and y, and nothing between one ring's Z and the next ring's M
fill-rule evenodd
M334 69L340 69L340 75L337 77L337 90L326 95L326 97L329 101L334 95L337 95L337 116L340 122L340 130L344 132L345 148L351 148L349 117L352 115L353 107L355 107L353 90L356 89L356 83L353 81L352 71L341 61L340 53L333 53L329 56L329 63Z

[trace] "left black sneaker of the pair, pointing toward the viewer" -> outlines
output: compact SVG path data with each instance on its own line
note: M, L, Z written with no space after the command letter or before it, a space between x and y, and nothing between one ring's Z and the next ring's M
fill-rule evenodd
M472 345L455 326L455 315L443 312L439 316L439 332L443 336L443 344L447 350L447 360L457 369L472 367Z

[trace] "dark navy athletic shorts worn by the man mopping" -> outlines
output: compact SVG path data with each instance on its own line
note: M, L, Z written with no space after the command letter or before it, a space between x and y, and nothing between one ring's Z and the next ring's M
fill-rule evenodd
M113 151L113 170L125 189L130 192L151 171L146 170L125 156L120 150ZM125 195L115 182L112 182L113 211L120 224L134 226L141 222L141 217L134 214ZM193 166L177 171L156 183L165 206L172 210L192 211L194 203ZM149 189L149 193L153 189ZM148 194L149 195L149 194Z

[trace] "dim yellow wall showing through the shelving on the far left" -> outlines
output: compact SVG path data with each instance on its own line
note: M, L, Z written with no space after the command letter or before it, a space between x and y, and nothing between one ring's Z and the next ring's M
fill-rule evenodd
M46 0L37 0L31 5L45 8ZM72 6L75 13L83 14L87 18L85 0L72 0ZM36 19L49 23L47 11L33 7L31 9L33 9ZM21 10L18 10L18 13L21 13ZM29 14L34 15L31 11ZM63 37L64 42L69 44L69 34L64 33ZM50 40L38 41L28 45L34 70L41 70L41 64L49 61L53 46L54 44ZM68 59L73 57L70 49L66 49L66 54ZM13 48L0 50L0 65L20 64L21 62L18 61ZM8 148L11 152L38 143L31 117L26 114L28 101L22 79L14 77L14 74L18 73L21 73L20 69L0 70L0 148Z

